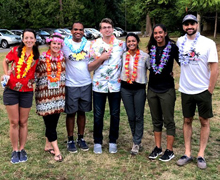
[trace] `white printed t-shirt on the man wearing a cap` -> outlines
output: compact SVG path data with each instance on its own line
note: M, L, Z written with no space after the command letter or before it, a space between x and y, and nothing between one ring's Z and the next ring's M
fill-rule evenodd
M182 47L184 36L177 41ZM208 63L218 62L215 42L202 35L199 36L195 46L193 40L187 39L183 46L183 56L189 58L189 64L181 65L179 91L185 94L198 94L208 89L210 69Z

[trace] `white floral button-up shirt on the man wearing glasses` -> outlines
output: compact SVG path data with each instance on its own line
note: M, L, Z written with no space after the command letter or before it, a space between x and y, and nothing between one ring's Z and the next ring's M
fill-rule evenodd
M108 93L119 92L121 88L121 66L124 43L114 39L113 50L109 59L105 60L93 74L93 91ZM102 38L92 42L90 48L90 62L101 56L103 50L108 51L110 45L105 43Z

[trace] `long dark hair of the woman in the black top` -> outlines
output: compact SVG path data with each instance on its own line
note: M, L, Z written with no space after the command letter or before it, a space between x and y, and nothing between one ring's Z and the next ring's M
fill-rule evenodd
M174 40L170 39L170 37L169 37L169 35L168 35L168 32L167 32L166 26L163 25L163 24L156 24L156 25L153 27L153 32L152 32L152 34L151 34L151 36L150 36L150 40L149 40L148 45L147 45L148 53L150 53L150 49L151 49L151 46L152 46L152 45L155 45L155 46L157 45L157 41L154 39L154 29L155 29L156 27L160 27L161 29L163 29L164 32L167 33L167 35L165 36L165 45L167 45L169 41L171 41L172 43L175 43Z

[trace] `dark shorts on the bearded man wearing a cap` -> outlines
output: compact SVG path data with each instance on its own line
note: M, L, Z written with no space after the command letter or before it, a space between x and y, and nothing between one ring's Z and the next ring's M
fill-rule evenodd
M196 106L198 106L199 116L208 119L213 117L212 113L212 94L206 90L199 94L181 93L182 111L185 118L195 115Z

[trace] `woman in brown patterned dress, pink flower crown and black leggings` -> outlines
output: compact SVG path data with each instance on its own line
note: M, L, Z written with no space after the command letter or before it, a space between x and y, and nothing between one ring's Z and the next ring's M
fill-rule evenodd
M36 69L36 111L43 116L46 126L44 150L60 162L63 158L57 144L56 127L65 107L65 59L61 51L63 38L59 33L54 33L46 42L49 50L42 53Z

